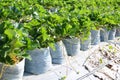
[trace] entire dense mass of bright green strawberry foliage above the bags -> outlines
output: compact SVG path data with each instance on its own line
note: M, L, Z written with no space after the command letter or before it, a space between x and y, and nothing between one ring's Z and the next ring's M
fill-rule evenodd
M0 62L63 38L86 39L91 29L120 25L118 0L0 0Z

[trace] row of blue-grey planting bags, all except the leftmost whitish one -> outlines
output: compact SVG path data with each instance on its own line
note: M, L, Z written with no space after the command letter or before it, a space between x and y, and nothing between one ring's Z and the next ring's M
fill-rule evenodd
M107 31L91 30L91 35L85 41L81 41L78 38L64 39L56 42L55 50L52 48L41 48L33 51L28 51L32 60L25 61L25 72L32 74L42 74L51 69L53 64L62 64L65 62L66 56L75 56L80 50L85 51L89 49L89 46L97 45L102 41L112 40L115 36L120 36L120 31L116 29Z

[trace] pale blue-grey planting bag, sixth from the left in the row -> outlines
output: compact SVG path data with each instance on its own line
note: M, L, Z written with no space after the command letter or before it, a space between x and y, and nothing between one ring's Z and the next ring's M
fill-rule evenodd
M100 30L91 30L91 44L97 45L100 43Z

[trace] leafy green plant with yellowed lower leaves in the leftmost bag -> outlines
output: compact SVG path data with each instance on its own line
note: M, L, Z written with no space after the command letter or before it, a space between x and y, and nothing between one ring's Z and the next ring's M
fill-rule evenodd
M15 28L9 20L3 21L1 27L0 62L15 64L23 58L29 58L26 54L27 34L22 31L22 28Z

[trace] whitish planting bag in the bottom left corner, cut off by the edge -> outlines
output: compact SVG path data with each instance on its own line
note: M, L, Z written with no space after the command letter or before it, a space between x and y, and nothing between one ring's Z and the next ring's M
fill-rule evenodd
M15 65L5 65L0 63L0 74L2 74L0 80L22 80L24 63L25 59Z

